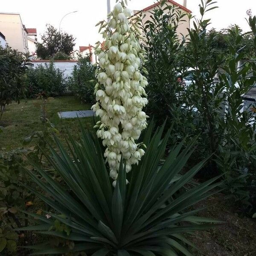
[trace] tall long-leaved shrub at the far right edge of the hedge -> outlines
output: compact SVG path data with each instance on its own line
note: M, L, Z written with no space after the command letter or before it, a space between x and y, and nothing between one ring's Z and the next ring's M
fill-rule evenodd
M256 116L254 108L243 109L241 95L256 82L256 64L245 61L240 67L239 61L244 59L242 48L237 45L242 41L239 30L230 31L233 44L230 45L229 61L222 68L225 73L219 76L220 84L226 89L225 117L219 122L221 130L221 145L218 146L218 167L225 173L230 195L244 208L251 208L250 202L255 200L254 169L256 159ZM245 107L244 107L245 108ZM231 184L230 184L231 183ZM250 191L251 190L251 191Z

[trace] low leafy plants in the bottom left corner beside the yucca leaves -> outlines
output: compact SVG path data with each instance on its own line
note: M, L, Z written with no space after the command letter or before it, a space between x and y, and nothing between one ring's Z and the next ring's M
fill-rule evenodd
M20 212L31 204L34 196L24 190L23 185L33 186L28 176L21 172L20 164L26 165L24 155L32 150L18 148L15 151L0 151L0 253L15 255L18 234L13 229L22 227ZM23 216L22 216L23 218Z

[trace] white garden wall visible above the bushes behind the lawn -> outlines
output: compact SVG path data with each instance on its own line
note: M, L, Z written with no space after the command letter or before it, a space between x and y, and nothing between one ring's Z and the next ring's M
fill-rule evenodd
M45 65L49 64L50 61L47 60L34 60L31 61L32 64L34 64L34 67L37 67L39 65ZM63 78L67 78L68 76L71 76L71 73L74 69L74 66L78 63L76 60L69 60L69 61L53 61L55 68L60 69L64 72Z

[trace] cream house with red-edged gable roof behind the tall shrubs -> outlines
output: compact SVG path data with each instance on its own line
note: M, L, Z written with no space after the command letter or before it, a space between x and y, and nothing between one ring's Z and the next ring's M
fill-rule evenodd
M144 9L142 9L141 11L134 11L134 15L142 15L143 21L145 22L146 20L150 20L151 19L151 15L152 15L152 11L154 9L157 9L160 7L162 1L159 1L157 3L152 4L151 6L145 7ZM182 35L183 36L187 36L189 33L187 31L187 28L190 27L189 25L189 17L188 15L191 13L191 11L189 9L186 8L186 0L183 0L183 5L175 2L174 0L166 0L165 6L173 6L175 9L183 12L186 14L186 16L183 17L183 21L180 22L179 26L177 27L177 35L179 36L179 39L182 40ZM168 14L169 10L166 9L164 10L164 14Z

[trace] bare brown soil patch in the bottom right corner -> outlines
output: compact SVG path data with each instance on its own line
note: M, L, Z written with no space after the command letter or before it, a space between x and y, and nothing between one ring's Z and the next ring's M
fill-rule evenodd
M207 207L201 217L226 221L217 228L197 232L192 237L200 252L195 256L254 256L256 255L256 221L240 215L232 201L223 194L216 194L195 205Z

